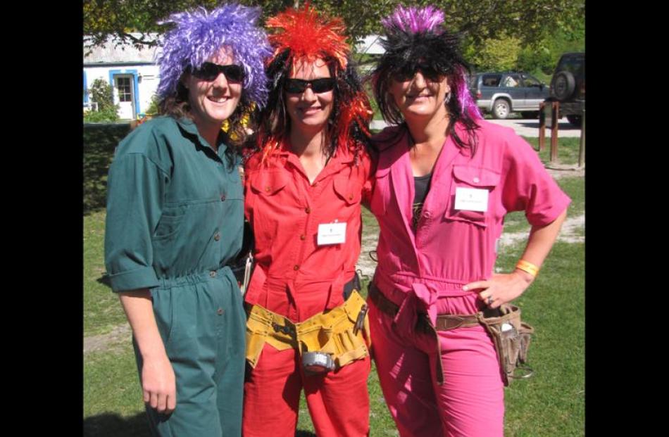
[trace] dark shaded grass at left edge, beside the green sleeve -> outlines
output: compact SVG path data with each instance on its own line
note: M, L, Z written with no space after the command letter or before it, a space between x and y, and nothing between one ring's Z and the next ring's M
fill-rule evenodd
M84 126L84 215L105 207L107 172L118 142L130 132L130 125Z

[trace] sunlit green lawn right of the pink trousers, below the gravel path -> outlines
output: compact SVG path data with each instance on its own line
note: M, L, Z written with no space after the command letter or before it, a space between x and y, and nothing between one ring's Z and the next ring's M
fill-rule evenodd
M518 306L530 323L534 376L506 389L505 436L584 433L584 243L558 241ZM509 271L523 247L507 248L497 265Z

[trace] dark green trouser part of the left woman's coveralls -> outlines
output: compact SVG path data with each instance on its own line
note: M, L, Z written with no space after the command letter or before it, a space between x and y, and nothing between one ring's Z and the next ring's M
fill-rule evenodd
M246 314L232 271L193 274L151 289L154 315L176 377L172 414L146 405L161 437L242 435ZM142 357L133 339L139 377Z

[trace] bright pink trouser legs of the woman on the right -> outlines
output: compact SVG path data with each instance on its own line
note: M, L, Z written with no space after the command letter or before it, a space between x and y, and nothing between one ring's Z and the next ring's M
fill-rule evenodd
M468 314L470 299L475 296L440 298L439 313ZM368 304L373 357L401 437L504 435L504 383L483 327L439 331L444 372L439 385L434 336L396 332L392 317L371 300Z

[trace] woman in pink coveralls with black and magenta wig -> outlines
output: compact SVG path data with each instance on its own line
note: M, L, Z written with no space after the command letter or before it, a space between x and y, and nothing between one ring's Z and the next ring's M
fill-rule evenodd
M401 436L502 436L504 383L480 324L434 327L518 298L558 235L570 199L512 129L482 120L458 39L431 6L383 20L372 75L384 120L371 210L379 220L370 329L380 384ZM513 272L494 274L504 215L532 225ZM423 326L425 323L423 323ZM452 327L449 327L452 328Z

